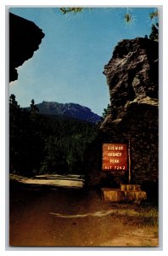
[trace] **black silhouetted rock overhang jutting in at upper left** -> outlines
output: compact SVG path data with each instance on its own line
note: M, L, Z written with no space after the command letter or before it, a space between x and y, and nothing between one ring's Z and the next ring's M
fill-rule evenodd
M43 37L35 23L9 13L9 82L18 79L16 67L32 57Z

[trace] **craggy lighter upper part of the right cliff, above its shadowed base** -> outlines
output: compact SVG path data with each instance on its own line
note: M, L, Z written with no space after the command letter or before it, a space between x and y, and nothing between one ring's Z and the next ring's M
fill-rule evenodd
M125 115L126 103L148 104L158 99L158 42L148 38L123 40L115 47L113 57L104 67L109 85L112 119Z

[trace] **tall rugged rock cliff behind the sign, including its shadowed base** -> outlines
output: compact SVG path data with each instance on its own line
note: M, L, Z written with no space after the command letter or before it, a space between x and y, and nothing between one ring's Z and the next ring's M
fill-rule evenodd
M148 38L122 40L104 66L110 97L110 113L100 127L98 140L102 143L132 143L132 183L157 183L158 181L158 43ZM98 183L107 177L101 171L101 160L92 161L92 177ZM96 175L97 173L97 175ZM108 174L109 175L109 174ZM111 173L111 181L126 175Z

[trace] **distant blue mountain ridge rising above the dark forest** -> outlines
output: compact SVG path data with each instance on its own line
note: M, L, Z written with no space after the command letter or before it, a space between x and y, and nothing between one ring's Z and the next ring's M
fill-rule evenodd
M36 104L39 113L48 115L61 115L74 119L81 119L92 123L100 121L101 117L96 113L92 113L90 108L75 103L58 103L58 102L42 102ZM30 110L31 108L25 108Z

